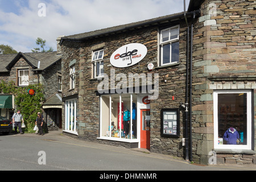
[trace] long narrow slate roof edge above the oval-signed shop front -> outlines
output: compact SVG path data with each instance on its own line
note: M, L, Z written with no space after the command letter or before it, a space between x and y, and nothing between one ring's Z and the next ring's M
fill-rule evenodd
M188 16L190 16L190 15L188 14ZM63 38L61 38L61 42L63 42L64 40L78 40L78 41L85 40L85 39L95 38L97 36L110 35L110 34L115 34L118 32L125 32L125 31L129 31L129 30L133 30L134 28L148 27L148 26L152 26L155 24L163 24L163 23L172 22L172 21L176 21L176 20L182 20L182 19L184 19L183 12L177 13L177 14L172 14L172 15L161 16L158 18L143 20L141 22L123 24L123 25L119 25L119 26L115 26L115 27L104 28L101 30L85 32L82 34L64 36ZM60 44L61 44L61 42L60 42Z

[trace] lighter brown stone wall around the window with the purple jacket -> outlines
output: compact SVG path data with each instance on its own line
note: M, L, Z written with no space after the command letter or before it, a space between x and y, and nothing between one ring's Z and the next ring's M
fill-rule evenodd
M255 96L255 5L255 1L246 0L205 1L201 6L193 35L195 162L208 164L209 152L213 150L213 90L251 89ZM255 106L254 100L254 121ZM240 154L230 159L234 158L233 161L241 162ZM223 154L220 159L223 163L230 161ZM253 161L253 157L250 159Z

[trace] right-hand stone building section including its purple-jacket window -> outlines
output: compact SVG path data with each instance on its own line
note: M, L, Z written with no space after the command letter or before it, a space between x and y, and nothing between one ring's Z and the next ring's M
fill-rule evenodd
M189 6L201 9L193 30L192 150L197 162L207 164L214 154L220 164L256 163L255 6L250 0L191 1ZM234 100L239 97L247 110L238 114ZM242 117L247 118L238 124ZM218 144L228 127L243 130L247 143Z

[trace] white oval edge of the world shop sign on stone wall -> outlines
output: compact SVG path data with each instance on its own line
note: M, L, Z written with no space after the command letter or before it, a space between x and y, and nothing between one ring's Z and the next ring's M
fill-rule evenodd
M117 49L110 57L110 63L117 68L131 67L139 63L147 55L147 47L132 43Z

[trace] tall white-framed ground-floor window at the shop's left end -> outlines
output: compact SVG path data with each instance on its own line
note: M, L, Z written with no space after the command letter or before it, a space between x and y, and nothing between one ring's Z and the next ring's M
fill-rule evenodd
M74 107L74 109L72 109ZM69 112L71 110L71 113ZM71 117L74 115L74 118ZM76 134L77 133L77 100L65 101L65 132Z

